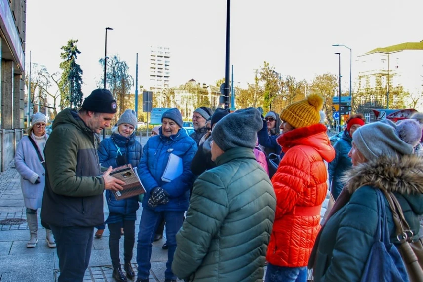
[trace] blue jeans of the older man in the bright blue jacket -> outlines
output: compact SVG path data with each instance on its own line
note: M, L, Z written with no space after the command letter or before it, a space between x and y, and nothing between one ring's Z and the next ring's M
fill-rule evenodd
M172 272L172 261L176 249L176 233L182 226L183 217L184 212L154 212L150 209L143 209L137 245L138 278L147 279L150 275L152 243L157 227L164 219L166 221L166 239L169 247L167 250L167 263L164 278L177 279L176 275Z

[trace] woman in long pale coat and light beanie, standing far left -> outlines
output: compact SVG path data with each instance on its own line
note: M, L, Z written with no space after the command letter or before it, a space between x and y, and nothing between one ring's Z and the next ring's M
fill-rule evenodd
M27 129L27 136L22 137L16 147L15 166L21 175L21 188L27 209L27 222L31 238L27 247L37 246L37 209L41 208L44 193L45 167L44 146L48 135L45 133L47 119L44 114L37 112L31 117L31 127ZM41 160L42 159L42 160ZM56 247L53 233L46 229L48 247Z

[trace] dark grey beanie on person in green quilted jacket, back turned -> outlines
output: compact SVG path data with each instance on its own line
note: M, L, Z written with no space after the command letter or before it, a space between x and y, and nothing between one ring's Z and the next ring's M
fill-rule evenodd
M239 109L216 123L212 131L213 142L223 151L234 147L256 146L257 132L262 129L260 112L253 108Z

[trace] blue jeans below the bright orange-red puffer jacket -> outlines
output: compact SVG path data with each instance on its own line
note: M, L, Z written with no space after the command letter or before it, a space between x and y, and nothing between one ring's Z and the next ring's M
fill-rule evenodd
M285 267L268 264L265 282L306 282L307 267Z

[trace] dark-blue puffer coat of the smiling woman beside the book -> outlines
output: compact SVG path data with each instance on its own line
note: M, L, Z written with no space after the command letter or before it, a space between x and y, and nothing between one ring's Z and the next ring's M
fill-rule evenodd
M133 133L129 138L119 133L112 133L110 138L103 140L98 149L98 157L102 167L117 167L116 157L126 156L128 163L136 168L140 163L143 147ZM109 190L106 191L106 199L109 206L109 218L106 223L116 223L125 220L136 220L136 211L140 207L138 196L117 201Z

